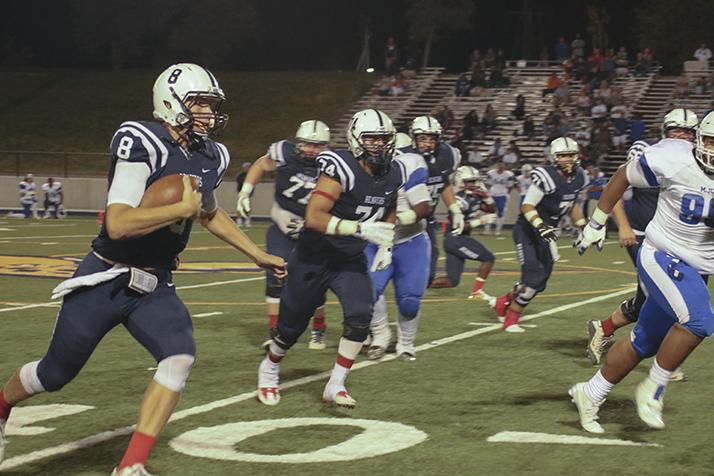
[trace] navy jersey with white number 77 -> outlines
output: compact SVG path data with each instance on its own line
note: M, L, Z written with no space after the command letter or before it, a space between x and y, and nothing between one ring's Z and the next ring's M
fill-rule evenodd
M305 216L307 201L319 175L315 161L301 160L296 145L281 140L270 145L268 157L275 162L275 201L280 208Z

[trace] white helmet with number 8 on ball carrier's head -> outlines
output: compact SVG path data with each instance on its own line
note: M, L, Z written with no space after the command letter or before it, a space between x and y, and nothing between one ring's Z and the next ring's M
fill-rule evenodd
M156 78L153 96L154 118L185 129L192 143L220 134L228 122L228 114L218 112L226 96L213 73L203 66L169 66ZM199 101L209 103L212 112L191 112L191 106Z

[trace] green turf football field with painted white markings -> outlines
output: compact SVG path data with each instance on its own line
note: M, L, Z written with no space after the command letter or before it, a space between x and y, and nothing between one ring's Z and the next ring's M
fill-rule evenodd
M90 219L0 218L1 380L45 351L57 313L49 291L60 278L40 275L71 272L66 258L81 258L96 231ZM264 233L261 224L250 229L258 243ZM498 258L485 289L503 293L518 275L513 243L510 237L483 240ZM561 245L569 243L564 238ZM714 370L707 363L714 350L708 342L688 360L689 380L668 389L665 431L648 430L631 401L649 365L618 385L600 412L606 433L598 440L659 446L487 441L502 432L594 436L580 430L566 391L594 372L585 358L585 322L607 316L629 294L635 277L615 244L584 257L570 248L561 251L548 290L528 308L526 316L536 318L525 322L534 327L524 334L500 332L491 309L466 299L472 274L457 289L429 290L417 361L360 358L347 382L358 401L354 411L320 403L322 372L333 365L341 327L340 308L331 297L328 349L308 350L303 336L283 361L283 384L289 388L280 405L265 407L253 394L262 358L258 347L266 335L262 274L250 266L241 269L236 262L244 261L242 256L196 229L182 256L194 272L177 273L175 282L194 315L197 363L148 469L161 475L713 474L708 443ZM207 271L211 268L222 271ZM136 419L154 365L123 328L115 329L73 383L16 410L11 421L23 425L10 432L0 472L109 474L126 447L126 427ZM44 407L50 404L74 406ZM74 413L56 416L60 411ZM319 420L291 420L296 418ZM354 422L365 430L350 424L353 419L381 424ZM250 423L264 420L269 421ZM405 426L394 429L389 422ZM210 428L216 426L221 427ZM113 430L118 431L107 433ZM328 448L339 443L344 445ZM347 460L314 462L335 455Z

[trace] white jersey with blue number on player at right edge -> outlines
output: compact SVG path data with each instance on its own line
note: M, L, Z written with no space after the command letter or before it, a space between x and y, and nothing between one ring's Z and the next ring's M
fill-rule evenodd
M699 167L693 148L684 140L662 139L627 162L627 180L633 187L660 190L645 243L709 275L714 274L714 178Z

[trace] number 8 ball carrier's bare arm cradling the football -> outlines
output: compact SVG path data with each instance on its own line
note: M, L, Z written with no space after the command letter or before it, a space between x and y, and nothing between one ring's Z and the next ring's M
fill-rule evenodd
M115 174L114 185L119 184ZM117 185L120 186L120 185ZM133 207L112 203L107 207L106 226L109 238L126 240L148 235L181 219L191 219L201 209L201 193L193 190L191 179L183 176L183 196L180 202L161 207ZM110 195L112 191L110 190Z

